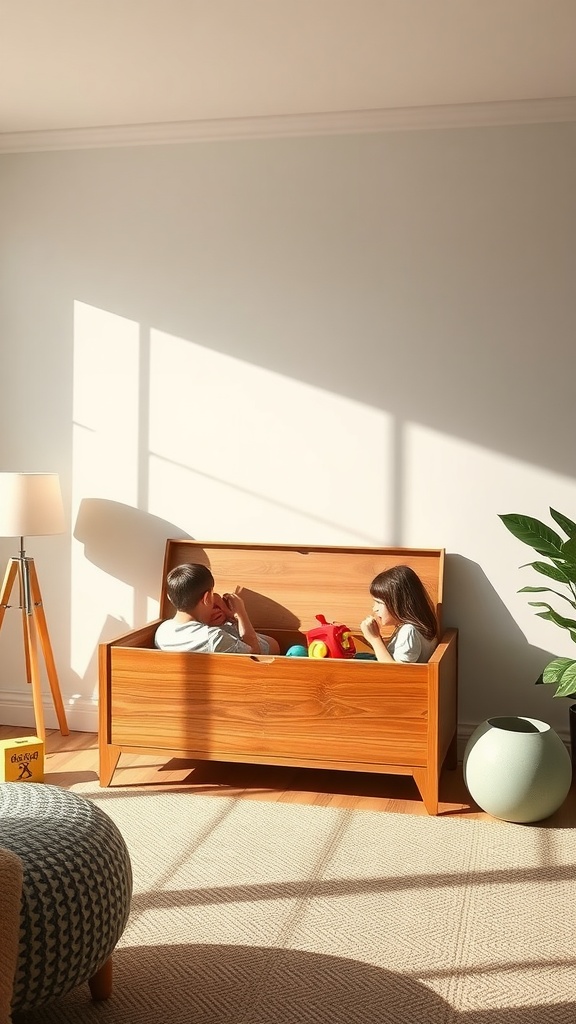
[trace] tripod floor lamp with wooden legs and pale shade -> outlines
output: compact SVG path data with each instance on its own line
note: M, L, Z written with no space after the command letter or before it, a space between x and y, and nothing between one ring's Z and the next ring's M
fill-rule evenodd
M57 473L0 473L0 537L19 537L20 541L19 554L13 555L8 560L0 591L0 628L6 609L19 608L24 629L27 680L32 685L36 732L42 740L46 738L46 727L40 688L38 639L63 736L68 736L69 728L36 565L34 558L30 558L24 550L24 540L25 537L63 534L64 530L64 508ZM19 601L17 605L10 605L8 602L16 580Z

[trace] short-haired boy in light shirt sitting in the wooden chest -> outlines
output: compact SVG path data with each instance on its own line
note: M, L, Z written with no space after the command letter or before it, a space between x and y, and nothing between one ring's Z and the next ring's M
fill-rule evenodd
M238 590L238 588L237 588ZM187 562L166 577L166 593L176 609L160 624L154 638L160 650L197 654L278 654L274 637L256 633L239 593L214 593L207 565Z

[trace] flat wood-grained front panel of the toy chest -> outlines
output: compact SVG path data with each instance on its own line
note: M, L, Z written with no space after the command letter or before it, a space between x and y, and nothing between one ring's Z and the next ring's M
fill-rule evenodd
M113 647L111 741L251 756L423 765L428 666Z

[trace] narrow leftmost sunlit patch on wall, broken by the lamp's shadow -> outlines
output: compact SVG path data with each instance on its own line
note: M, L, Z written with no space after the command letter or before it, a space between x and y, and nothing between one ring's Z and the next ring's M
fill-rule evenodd
M86 497L137 506L138 372L138 325L75 302L73 522ZM72 541L71 666L80 677L95 659L102 630L121 633L134 606L133 587L86 557L89 543Z

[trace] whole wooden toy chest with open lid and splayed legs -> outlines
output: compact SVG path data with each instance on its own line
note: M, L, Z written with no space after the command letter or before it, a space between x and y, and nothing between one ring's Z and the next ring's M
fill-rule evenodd
M442 622L442 549L169 540L160 618L99 645L100 785L122 752L154 753L412 775L438 813L441 768L456 757L456 630L425 665L156 650L156 628L174 613L166 574L183 562L209 565L220 593L242 585L254 627L283 652L305 643L321 612L369 649L360 623L371 581L390 565L412 566Z

